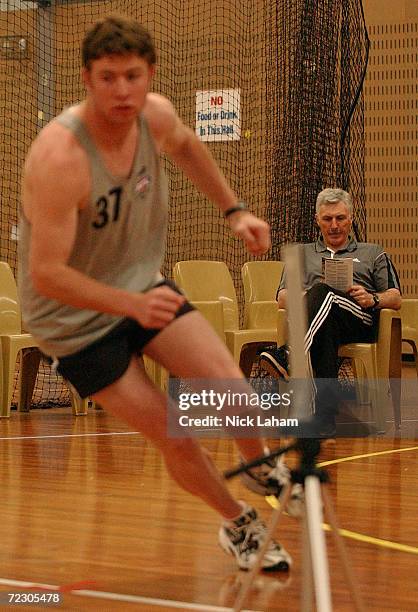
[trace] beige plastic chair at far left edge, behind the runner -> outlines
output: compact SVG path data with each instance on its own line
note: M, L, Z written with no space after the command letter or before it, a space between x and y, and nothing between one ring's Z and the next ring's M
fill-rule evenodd
M16 281L10 266L0 262L0 418L10 417L10 404L13 395L14 372L18 355L21 355L19 373L18 410L27 412L30 408L36 375L38 373L40 352L31 334L22 333L21 311ZM86 414L88 400L82 400L72 392L74 414Z

